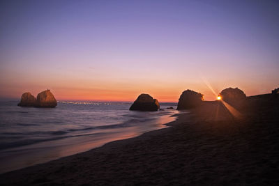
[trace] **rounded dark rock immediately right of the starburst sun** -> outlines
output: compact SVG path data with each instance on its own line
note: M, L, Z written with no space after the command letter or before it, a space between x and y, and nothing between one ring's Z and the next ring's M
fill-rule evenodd
M222 100L229 104L239 104L246 100L246 94L239 88L226 88L220 95Z

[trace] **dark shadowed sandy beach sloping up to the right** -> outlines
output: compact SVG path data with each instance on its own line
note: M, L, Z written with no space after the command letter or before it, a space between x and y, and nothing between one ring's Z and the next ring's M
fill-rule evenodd
M172 127L0 175L1 185L279 185L279 107L251 97L234 118L220 102Z

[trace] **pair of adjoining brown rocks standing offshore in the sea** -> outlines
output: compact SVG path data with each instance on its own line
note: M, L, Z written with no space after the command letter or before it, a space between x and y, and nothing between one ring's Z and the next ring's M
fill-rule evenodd
M21 107L56 107L57 102L54 95L50 90L38 93L37 98L35 98L31 93L23 93L22 99L17 106Z

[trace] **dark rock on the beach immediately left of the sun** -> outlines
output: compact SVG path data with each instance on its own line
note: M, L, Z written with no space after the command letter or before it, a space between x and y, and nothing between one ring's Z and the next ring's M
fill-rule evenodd
M204 95L188 89L187 91L183 91L183 93L180 95L179 104L177 104L177 109L183 110L197 107L200 104L202 104L203 100Z

